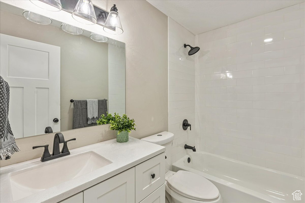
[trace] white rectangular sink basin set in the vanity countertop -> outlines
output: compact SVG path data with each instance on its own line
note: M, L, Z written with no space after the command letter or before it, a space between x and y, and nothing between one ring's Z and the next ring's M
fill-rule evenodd
M13 201L88 174L110 163L112 162L106 158L88 152L43 167L16 172L10 177Z

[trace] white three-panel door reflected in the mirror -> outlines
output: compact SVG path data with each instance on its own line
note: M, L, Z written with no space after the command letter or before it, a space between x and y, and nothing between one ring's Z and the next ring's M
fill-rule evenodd
M44 134L47 126L60 131L60 47L4 34L0 38L0 72L10 86L15 138Z

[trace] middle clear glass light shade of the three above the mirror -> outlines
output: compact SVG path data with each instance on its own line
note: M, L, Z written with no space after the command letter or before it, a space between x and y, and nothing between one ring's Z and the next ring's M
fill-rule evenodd
M90 0L78 0L72 17L87 25L94 25L97 22L93 4Z

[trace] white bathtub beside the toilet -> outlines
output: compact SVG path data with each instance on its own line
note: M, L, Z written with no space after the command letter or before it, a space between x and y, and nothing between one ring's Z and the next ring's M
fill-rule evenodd
M305 200L304 177L203 151L184 156L172 165L172 170L187 170L209 179L218 188L224 203ZM301 201L293 200L292 193L296 190L303 193Z

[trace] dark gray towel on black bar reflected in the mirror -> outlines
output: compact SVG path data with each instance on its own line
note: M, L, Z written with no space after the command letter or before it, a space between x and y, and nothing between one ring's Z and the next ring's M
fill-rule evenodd
M98 100L98 118L102 114L106 115L107 100ZM74 100L73 108L73 129L96 126L96 123L88 124L87 100Z

